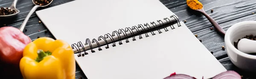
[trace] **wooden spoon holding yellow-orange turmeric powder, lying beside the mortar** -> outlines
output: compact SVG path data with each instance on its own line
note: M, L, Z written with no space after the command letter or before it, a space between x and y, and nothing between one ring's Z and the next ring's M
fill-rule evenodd
M210 17L203 8L203 4L200 3L198 0L187 0L186 1L187 5L189 6L189 8L199 11L201 12L208 20L209 22L213 25L213 27L217 30L218 33L220 33L222 36L225 36L226 31L224 31L220 25L218 25L217 22L215 22L215 20L212 19L212 17Z

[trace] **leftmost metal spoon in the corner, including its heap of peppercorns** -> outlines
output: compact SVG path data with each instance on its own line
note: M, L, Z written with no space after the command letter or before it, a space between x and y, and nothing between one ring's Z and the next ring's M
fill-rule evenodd
M20 11L16 8L18 0L14 0L10 7L0 8L0 18L10 18L16 16Z

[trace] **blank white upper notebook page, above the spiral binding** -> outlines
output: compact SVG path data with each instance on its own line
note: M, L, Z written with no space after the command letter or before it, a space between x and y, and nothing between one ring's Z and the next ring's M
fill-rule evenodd
M159 0L74 0L36 14L56 39L70 45L175 15Z

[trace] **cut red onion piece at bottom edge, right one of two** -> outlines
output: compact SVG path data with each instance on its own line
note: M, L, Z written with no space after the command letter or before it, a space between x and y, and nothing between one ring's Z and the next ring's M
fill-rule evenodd
M214 76L212 79L241 79L241 76L235 71L225 71Z

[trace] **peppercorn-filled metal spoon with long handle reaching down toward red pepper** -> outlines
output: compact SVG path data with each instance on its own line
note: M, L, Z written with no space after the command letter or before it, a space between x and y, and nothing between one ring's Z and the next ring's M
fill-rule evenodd
M29 20L29 17L35 12L35 10L39 7L46 7L49 6L52 3L53 0L32 0L32 2L35 4L35 6L29 11L29 14L26 16L25 20L23 23L20 25L20 31L23 31L26 23Z

